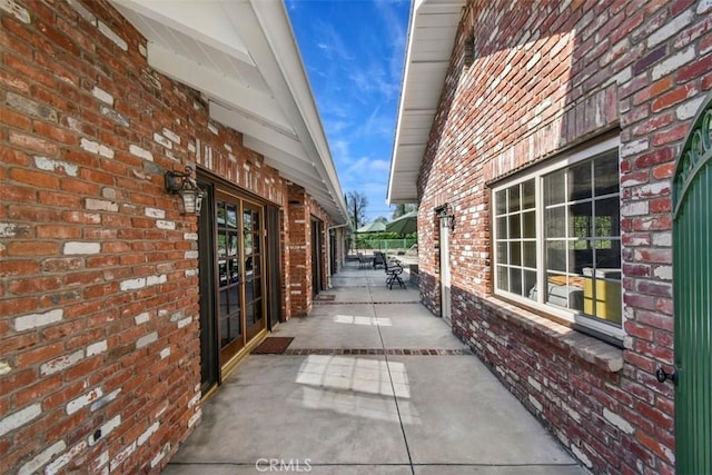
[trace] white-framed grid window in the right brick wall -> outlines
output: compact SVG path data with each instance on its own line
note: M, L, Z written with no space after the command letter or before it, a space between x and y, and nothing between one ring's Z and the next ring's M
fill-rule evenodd
M617 138L492 189L494 293L620 340Z

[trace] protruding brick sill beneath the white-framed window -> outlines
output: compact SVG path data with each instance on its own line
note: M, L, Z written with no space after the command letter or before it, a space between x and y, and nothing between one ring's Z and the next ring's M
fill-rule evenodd
M601 370L617 373L623 369L623 350L621 348L497 297L485 296L483 300L485 305L496 310L505 320L542 335L552 345L571 352Z

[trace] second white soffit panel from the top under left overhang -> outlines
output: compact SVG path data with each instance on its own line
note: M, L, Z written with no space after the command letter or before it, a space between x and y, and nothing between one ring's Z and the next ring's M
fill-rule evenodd
M157 71L202 91L227 106L259 117L274 127L291 130L271 97L247 88L239 81L199 65L161 44L149 42L147 51L148 63Z

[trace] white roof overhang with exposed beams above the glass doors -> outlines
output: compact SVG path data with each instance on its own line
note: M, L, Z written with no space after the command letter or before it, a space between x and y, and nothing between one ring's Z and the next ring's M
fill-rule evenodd
M281 1L111 0L146 37L151 68L198 91L335 224L349 224L324 128Z

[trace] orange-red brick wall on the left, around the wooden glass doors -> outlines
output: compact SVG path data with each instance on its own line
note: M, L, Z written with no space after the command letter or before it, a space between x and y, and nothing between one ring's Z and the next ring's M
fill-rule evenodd
M287 184L108 2L0 22L0 472L158 472L200 418L196 218L164 171L284 209Z

